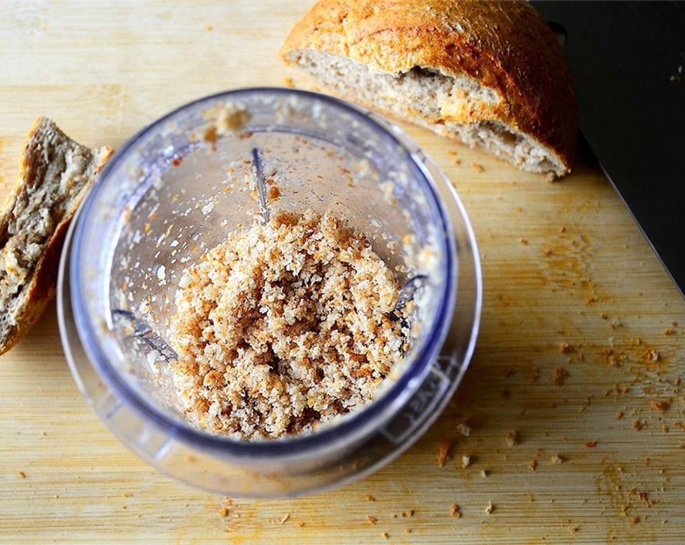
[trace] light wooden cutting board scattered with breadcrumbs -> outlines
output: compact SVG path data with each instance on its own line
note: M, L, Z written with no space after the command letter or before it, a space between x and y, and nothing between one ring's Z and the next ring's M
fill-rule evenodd
M119 147L191 99L281 85L277 51L306 8L3 3L0 192L38 114L82 143ZM581 147L573 174L549 184L402 126L456 186L484 271L477 352L425 437L343 489L227 505L105 429L73 383L51 309L0 359L0 542L684 542L685 303L593 156Z

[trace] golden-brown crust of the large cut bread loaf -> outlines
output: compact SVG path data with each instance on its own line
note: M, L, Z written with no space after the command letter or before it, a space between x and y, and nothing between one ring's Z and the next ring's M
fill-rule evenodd
M303 50L393 74L420 67L471 77L500 100L453 97L429 122L506 123L570 169L578 128L571 75L556 37L523 0L322 0L292 29L282 58L297 62Z

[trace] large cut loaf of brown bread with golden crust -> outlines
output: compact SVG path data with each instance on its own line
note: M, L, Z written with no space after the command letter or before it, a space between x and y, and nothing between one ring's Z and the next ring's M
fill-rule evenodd
M523 0L322 0L281 56L337 95L521 169L571 170L571 75L556 37Z

